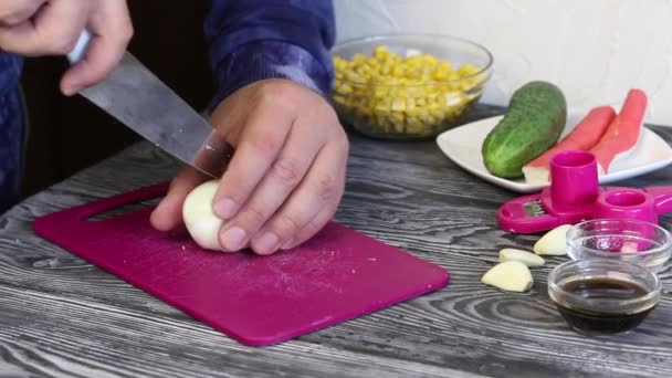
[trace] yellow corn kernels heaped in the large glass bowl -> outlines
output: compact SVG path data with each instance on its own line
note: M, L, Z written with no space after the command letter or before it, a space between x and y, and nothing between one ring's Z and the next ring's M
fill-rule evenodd
M333 99L356 122L375 132L432 134L454 122L481 95L486 78L481 67L429 54L402 57L386 46L372 56L334 57Z

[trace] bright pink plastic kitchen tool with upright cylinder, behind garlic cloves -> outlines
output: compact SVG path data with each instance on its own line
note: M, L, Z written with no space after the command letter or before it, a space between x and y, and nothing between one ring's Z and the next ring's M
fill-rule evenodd
M535 233L590 219L638 219L658 224L658 217L669 211L672 187L600 187L595 155L571 150L550 159L549 187L504 203L497 221L508 232Z

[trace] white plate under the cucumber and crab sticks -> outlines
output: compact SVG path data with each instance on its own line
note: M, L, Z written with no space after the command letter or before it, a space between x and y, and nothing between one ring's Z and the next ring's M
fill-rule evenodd
M531 193L544 189L547 185L528 185L525 179L504 179L491 175L481 155L481 145L502 116L481 119L455 127L437 137L439 148L458 166L469 172L506 189ZM564 135L574 128L579 117L569 115ZM642 134L636 149L627 159L615 160L611 171L600 176L600 183L609 183L663 168L672 164L672 148L658 134L642 127Z

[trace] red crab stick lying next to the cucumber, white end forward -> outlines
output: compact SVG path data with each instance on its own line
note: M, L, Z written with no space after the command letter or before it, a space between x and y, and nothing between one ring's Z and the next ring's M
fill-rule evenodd
M590 111L563 140L523 167L525 181L531 185L548 183L550 158L561 151L592 148L615 118L616 112L611 106L600 106Z

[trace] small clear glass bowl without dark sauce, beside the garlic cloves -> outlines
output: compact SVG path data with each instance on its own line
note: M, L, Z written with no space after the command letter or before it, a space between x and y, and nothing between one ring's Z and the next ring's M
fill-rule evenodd
M567 254L573 260L628 261L657 273L671 253L670 232L640 220L589 220L567 231Z

